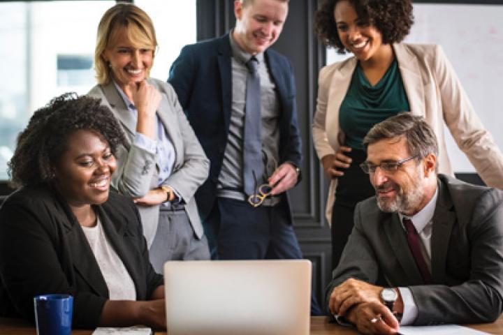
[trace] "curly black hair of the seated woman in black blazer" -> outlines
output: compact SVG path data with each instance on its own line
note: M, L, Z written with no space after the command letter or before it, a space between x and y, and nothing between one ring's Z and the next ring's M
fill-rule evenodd
M62 94L37 110L17 137L8 163L10 184L19 187L51 181L52 166L68 149L68 137L80 130L103 135L112 154L125 141L121 126L99 99Z

